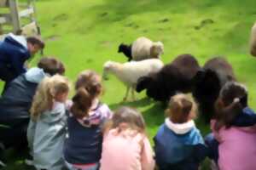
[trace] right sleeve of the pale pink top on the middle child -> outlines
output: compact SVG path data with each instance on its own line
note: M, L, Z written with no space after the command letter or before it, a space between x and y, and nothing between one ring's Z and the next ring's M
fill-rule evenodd
M143 139L142 145L142 170L154 170L153 150L148 138Z

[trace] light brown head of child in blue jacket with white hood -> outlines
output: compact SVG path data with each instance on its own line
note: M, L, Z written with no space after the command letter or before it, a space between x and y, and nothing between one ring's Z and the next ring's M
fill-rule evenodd
M174 123L189 122L196 116L195 102L188 95L176 94L170 99L166 114Z

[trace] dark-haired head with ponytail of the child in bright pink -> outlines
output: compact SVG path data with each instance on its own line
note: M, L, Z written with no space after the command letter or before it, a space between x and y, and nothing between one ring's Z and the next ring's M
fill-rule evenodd
M236 116L247 107L247 88L239 82L227 82L215 104L216 129L230 127Z

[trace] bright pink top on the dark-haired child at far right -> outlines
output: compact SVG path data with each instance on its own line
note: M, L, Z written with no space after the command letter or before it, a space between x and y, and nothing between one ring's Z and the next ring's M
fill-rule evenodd
M256 126L222 127L213 130L218 140L218 167L220 170L256 170Z

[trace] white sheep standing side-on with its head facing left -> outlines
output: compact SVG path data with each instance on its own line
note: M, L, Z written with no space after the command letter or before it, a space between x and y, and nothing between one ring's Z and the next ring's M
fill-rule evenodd
M103 79L107 79L108 73L112 73L126 86L124 101L128 98L131 89L132 99L135 100L134 90L137 86L137 80L140 77L148 76L149 73L160 71L164 66L160 59L145 59L142 61L131 61L124 64L107 61L103 65Z

